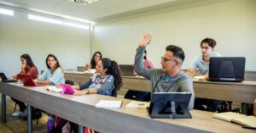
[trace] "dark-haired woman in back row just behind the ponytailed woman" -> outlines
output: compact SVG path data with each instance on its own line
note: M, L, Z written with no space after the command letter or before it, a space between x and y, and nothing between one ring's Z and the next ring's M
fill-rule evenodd
M102 59L102 53L101 52L96 52L93 53L93 56L90 59L90 64L85 64L84 71L86 69L96 69L96 65L98 62Z

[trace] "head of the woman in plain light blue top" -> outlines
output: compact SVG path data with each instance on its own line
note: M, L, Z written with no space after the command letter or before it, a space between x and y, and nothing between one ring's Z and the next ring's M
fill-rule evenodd
M61 67L58 58L55 57L53 54L49 54L46 58L46 65L48 69L55 70Z

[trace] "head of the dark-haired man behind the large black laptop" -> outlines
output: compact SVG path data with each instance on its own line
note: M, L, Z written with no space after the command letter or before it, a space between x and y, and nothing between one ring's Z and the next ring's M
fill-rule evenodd
M211 53L214 51L214 47L216 46L216 42L212 38L205 38L201 41L201 54L204 57L209 57Z

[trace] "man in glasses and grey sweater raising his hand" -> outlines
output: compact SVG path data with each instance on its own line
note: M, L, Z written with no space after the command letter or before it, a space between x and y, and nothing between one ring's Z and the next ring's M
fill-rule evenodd
M195 94L191 78L181 69L185 58L183 49L174 45L167 46L166 53L160 62L162 69L145 69L143 67L143 53L151 41L151 37L150 34L145 35L143 40L139 42L135 57L135 71L151 81L152 94L154 92L191 92L188 109L192 109Z

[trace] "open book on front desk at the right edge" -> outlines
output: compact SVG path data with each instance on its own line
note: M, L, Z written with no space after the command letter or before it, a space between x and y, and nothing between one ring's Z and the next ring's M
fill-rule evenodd
M256 117L253 115L247 116L245 114L237 114L233 112L225 112L220 114L213 114L215 119L222 119L229 122L235 122L240 125L245 125L247 127L256 128Z

